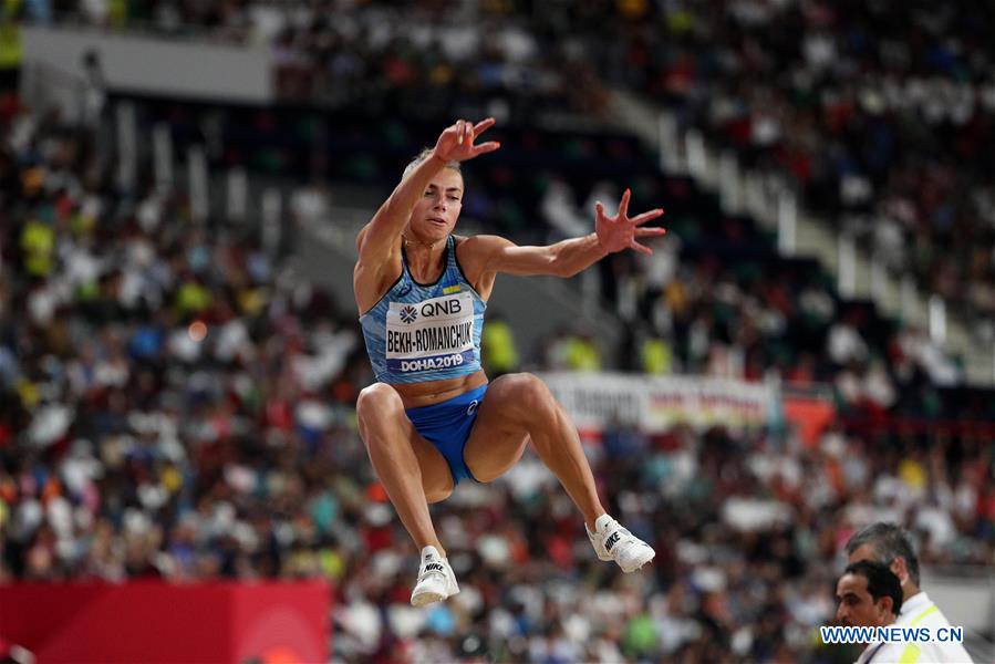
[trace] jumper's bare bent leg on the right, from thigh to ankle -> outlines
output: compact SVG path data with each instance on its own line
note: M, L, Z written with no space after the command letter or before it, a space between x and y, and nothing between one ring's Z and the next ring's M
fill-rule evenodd
M491 481L515 465L529 438L591 530L604 513L577 428L538 377L507 374L488 385L464 452L470 473Z

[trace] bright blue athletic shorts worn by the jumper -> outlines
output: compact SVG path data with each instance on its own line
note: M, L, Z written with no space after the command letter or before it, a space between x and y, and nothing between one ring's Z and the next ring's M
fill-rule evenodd
M404 411L415 425L415 430L445 457L449 473L453 474L454 486L464 478L477 481L463 459L463 450L470 437L474 422L477 421L477 409L484 401L486 383L448 401Z

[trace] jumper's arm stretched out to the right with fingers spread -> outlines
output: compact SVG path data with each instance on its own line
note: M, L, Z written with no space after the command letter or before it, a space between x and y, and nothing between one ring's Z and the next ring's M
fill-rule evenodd
M663 210L656 208L630 218L631 195L631 191L625 189L619 204L619 212L613 217L604 214L604 206L599 201L594 206L597 214L594 232L582 238L572 238L547 247L519 247L497 236L470 238L478 240L480 251L486 257L483 261L483 271L572 277L609 253L623 249L635 249L652 255L653 250L640 243L636 238L662 236L666 232L663 228L640 228L646 221L663 215Z

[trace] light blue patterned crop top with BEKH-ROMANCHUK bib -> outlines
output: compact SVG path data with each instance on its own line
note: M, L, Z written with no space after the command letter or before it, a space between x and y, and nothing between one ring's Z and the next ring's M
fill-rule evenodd
M401 256L401 276L360 317L366 352L381 383L444 381L480 370L480 334L487 303L446 239L446 268L435 283L418 283Z

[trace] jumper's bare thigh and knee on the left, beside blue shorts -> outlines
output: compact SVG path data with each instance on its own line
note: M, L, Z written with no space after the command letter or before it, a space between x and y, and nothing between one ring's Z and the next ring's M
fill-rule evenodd
M445 499L453 492L453 474L449 473L449 465L446 463L446 459L432 443L418 434L415 425L412 424L412 421L404 413L401 397L394 392L393 387L383 383L375 383L371 387L375 391L374 398L361 400L361 404L365 405L366 408L361 407L357 413L361 419L369 418L367 425L361 425L360 427L361 434L364 434L366 446L375 444L373 440L365 440L366 437L375 438L381 436L386 438L398 436L407 440L415 453L415 459L418 461L418 469L422 473L422 487L425 490L425 497L428 499L428 502L437 502Z

